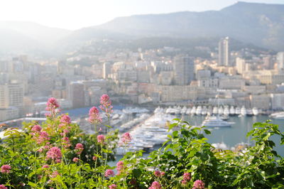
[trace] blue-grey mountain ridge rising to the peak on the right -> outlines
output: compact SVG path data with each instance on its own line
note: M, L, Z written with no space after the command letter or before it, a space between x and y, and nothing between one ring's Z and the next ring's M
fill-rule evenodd
M220 11L177 12L114 18L74 31L65 41L120 38L221 38L284 50L284 5L238 2ZM75 38L74 38L75 37Z

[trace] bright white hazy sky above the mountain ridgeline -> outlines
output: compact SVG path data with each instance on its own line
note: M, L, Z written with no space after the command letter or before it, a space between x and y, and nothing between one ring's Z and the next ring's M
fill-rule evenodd
M244 0L284 4L284 0ZM118 16L175 11L219 10L236 0L0 0L0 21L32 21L77 29Z

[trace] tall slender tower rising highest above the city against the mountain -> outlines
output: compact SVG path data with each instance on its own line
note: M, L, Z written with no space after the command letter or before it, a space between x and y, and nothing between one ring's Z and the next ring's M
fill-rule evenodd
M229 37L221 38L219 41L219 61L218 65L231 66L229 52Z

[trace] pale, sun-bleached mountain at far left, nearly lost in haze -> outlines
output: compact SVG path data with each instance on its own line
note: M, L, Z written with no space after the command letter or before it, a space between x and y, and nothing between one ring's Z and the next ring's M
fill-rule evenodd
M55 42L72 31L25 21L0 21L0 51L49 53Z

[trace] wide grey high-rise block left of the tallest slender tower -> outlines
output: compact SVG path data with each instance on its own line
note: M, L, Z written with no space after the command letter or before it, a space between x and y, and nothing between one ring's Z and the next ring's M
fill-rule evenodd
M175 84L189 85L192 80L195 80L195 62L190 57L175 57Z

